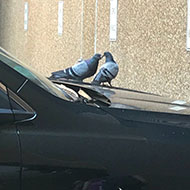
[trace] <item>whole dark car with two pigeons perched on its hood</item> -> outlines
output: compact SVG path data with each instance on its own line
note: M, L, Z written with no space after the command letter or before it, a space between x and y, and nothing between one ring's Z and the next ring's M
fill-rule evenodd
M189 147L189 103L50 81L0 48L0 189L186 190Z

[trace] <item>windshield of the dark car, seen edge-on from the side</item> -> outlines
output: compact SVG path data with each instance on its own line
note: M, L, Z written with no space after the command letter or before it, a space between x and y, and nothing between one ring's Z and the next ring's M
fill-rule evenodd
M27 65L23 64L21 61L18 61L16 58L14 58L12 55L10 55L8 52L6 52L3 48L0 47L0 60L3 63L6 63L9 67L26 77L27 79L31 80L38 86L42 87L46 91L64 98L68 100L68 94L63 89L58 88L56 85L54 85L51 81L49 81L44 76L38 74L31 68L29 68Z

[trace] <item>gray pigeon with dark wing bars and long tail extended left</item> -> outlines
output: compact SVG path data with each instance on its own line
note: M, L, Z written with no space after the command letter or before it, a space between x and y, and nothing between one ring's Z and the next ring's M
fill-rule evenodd
M81 60L72 67L53 72L49 79L64 78L83 81L85 78L91 77L96 73L101 58L101 54L95 54L91 59Z

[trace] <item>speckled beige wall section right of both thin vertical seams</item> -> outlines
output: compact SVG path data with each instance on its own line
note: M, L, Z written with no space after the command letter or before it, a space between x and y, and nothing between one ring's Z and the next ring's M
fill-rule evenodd
M109 42L109 1L100 0L98 49L120 66L115 84L190 100L186 1L119 0L118 40ZM104 39L104 40L102 40Z

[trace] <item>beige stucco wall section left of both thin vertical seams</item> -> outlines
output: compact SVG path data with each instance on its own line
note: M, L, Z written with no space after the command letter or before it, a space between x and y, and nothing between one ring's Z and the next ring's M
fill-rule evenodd
M80 58L80 0L64 0L62 36L58 35L57 29L58 1L26 1L29 4L28 31L24 31L23 25L24 1L17 2L1 0L2 47L46 76Z

